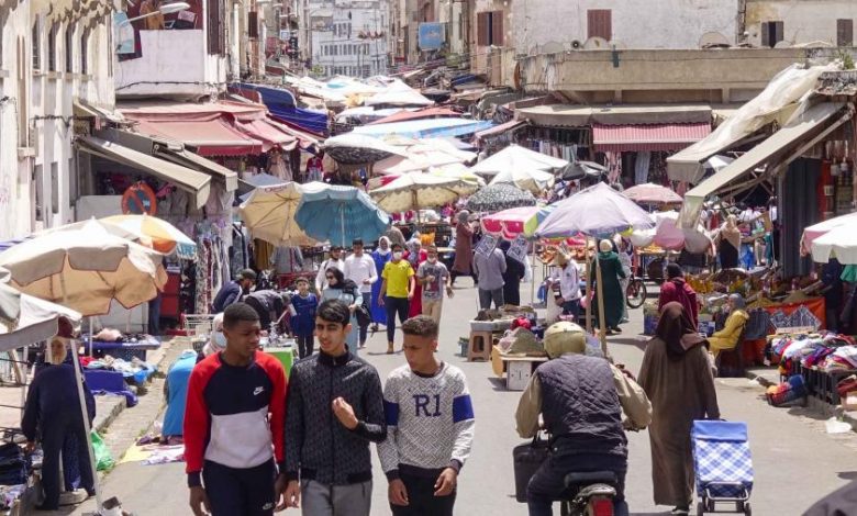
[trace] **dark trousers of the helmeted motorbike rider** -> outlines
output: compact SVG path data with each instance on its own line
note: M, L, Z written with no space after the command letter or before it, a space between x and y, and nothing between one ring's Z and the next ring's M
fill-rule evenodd
M566 491L566 474L590 471L613 471L616 473L619 485L616 485L613 511L615 516L627 516L628 509L625 503L626 459L599 453L569 455L561 451L552 455L530 479L530 484L526 486L526 504L530 508L530 516L552 516L550 506L555 501L559 501Z

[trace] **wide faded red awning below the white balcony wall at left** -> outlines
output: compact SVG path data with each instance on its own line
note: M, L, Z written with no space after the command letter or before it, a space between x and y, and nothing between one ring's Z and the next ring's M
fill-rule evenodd
M210 120L138 120L138 130L149 136L181 142L196 147L201 156L243 156L261 154L263 142L254 139L221 117Z

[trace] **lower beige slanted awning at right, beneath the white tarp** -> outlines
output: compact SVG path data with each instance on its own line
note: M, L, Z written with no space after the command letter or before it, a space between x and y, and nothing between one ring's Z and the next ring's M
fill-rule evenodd
M768 139L687 192L679 218L681 225L693 227L702 203L709 195L721 192L761 165L768 164L770 168L778 162L790 161L850 120L853 112L850 109L844 110L844 106L842 103L824 102L809 108Z

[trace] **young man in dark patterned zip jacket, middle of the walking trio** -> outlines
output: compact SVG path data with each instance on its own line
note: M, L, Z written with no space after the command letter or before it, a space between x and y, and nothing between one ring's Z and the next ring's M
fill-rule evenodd
M369 516L369 442L387 437L378 371L345 346L348 305L322 303L315 312L319 354L294 364L286 414L286 503L303 516Z

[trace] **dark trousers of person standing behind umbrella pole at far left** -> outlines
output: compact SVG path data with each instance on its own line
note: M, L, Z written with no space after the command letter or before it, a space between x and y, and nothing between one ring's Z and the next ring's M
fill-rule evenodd
M73 410L69 407L69 410ZM77 440L78 463L80 464L80 486L92 490L92 468L89 463L89 446L84 419L77 414L63 414L42 422L42 450L45 457L42 462L42 486L45 490L45 508L59 506L59 456L67 436Z

